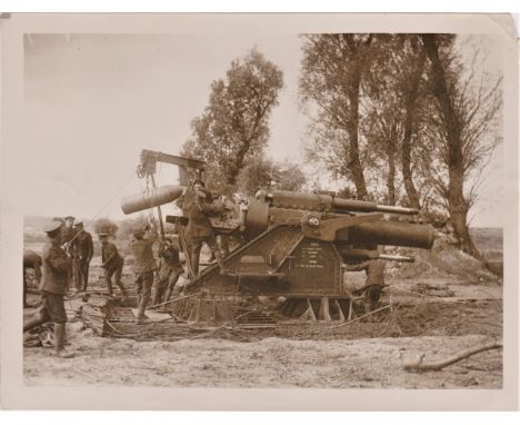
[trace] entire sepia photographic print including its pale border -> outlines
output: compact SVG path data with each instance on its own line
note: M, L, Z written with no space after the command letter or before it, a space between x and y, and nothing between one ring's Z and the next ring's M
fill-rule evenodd
M2 17L28 394L518 395L512 22L327 17Z

